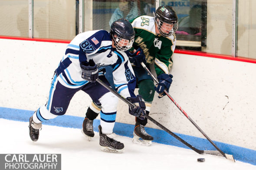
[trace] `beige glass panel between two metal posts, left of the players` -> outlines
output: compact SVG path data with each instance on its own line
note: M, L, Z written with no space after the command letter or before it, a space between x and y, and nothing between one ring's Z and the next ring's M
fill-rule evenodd
M34 0L34 38L75 37L75 0Z

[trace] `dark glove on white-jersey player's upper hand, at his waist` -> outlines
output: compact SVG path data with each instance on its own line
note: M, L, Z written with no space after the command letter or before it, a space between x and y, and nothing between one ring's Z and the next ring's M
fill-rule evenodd
M80 63L80 67L82 69L82 78L95 83L98 79L98 66L95 62L90 59L89 62Z

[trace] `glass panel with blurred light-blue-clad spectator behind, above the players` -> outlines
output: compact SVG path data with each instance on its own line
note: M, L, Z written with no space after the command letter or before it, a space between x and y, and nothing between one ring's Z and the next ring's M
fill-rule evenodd
M155 11L154 0L93 0L92 29L109 30L111 23L121 17L129 20L140 15L153 16L153 11ZM88 19L88 16L85 14L85 19Z

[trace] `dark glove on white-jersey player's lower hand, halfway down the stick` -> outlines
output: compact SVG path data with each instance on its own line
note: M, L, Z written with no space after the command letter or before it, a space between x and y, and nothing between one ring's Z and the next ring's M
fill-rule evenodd
M128 99L129 102L135 105L134 108L131 108L131 106L129 106L129 113L131 115L134 115L135 117L138 117L141 120L144 120L146 105L141 95L137 95L136 97L127 97L126 99Z

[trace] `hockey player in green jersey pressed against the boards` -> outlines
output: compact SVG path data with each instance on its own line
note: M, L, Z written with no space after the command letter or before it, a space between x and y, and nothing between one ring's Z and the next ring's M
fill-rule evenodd
M169 90L172 75L169 74L173 64L171 56L174 53L178 29L178 17L171 6L160 6L154 17L139 16L130 20L135 30L135 41L130 49L130 61L135 72L138 93L146 104L146 113L149 114L154 92L159 93L159 98L165 95L164 90ZM154 85L153 79L141 66L144 62L152 73L156 73L159 83ZM150 145L153 137L149 135L144 126L148 120L136 119L133 132L133 142ZM139 140L141 138L142 140Z

